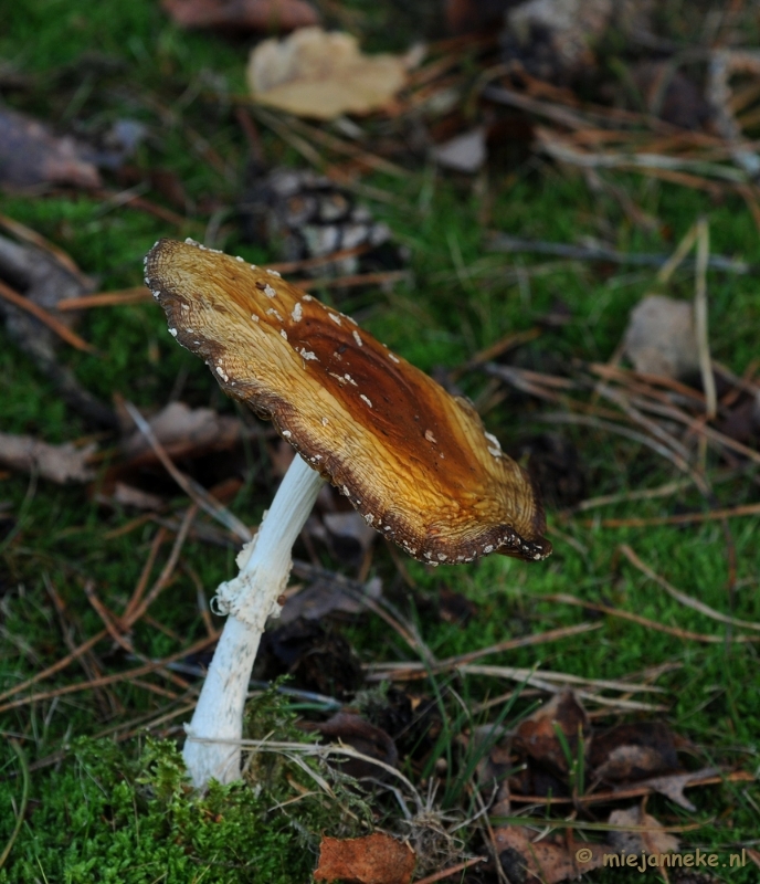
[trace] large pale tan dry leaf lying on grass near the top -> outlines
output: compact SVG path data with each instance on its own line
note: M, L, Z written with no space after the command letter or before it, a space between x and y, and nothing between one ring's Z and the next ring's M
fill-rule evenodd
M363 55L356 38L321 28L302 28L282 41L265 40L253 50L247 66L256 102L316 119L377 110L405 82L402 56Z

